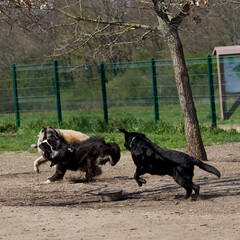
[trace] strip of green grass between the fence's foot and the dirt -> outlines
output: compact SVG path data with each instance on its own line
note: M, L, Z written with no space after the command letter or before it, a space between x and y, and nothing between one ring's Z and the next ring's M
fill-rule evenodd
M12 125L1 125L0 127L0 151L21 151L29 150L30 145L37 143L38 133L42 125L52 125L57 128L56 121L32 121L19 129ZM88 119L72 117L64 121L61 128L73 129L88 134L89 136L103 136L107 142L116 142L121 150L124 147L124 136L118 131L118 128L125 128L128 131L142 132L162 148L185 148L186 138L184 125L169 125L159 122L157 125L152 120L143 120L134 116L112 119L108 126L104 125L100 118ZM240 139L240 133L235 129L222 130L202 125L201 134L205 146L223 144L228 142L237 142ZM29 150L30 151L30 150Z

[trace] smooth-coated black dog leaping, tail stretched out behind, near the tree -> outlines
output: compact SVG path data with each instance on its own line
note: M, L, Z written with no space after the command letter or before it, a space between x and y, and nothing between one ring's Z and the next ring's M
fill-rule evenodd
M133 161L137 166L134 178L139 186L146 183L145 179L140 178L145 173L169 175L186 189L186 199L191 196L192 190L195 191L197 199L200 187L192 182L194 165L220 178L220 172L216 168L197 158L183 152L162 149L142 133L127 132L124 129L119 129L119 131L124 133L124 146L131 152Z

